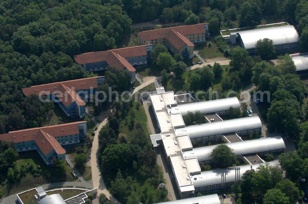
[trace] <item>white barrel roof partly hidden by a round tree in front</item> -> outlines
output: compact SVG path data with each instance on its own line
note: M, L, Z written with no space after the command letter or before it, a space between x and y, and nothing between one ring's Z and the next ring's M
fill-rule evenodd
M245 155L286 148L286 145L281 136L226 143L225 145L233 149L233 152L236 155ZM183 155L186 156L186 158L197 157L197 160L199 162L209 160L212 159L212 151L217 146L218 145L212 145L207 147L194 148L191 151L185 151Z

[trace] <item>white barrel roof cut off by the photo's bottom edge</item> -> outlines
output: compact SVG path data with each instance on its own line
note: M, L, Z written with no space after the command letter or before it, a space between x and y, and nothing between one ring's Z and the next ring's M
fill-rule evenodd
M159 204L221 204L217 194L204 195L194 198L186 198L175 201L160 202ZM158 203L156 203L158 204Z

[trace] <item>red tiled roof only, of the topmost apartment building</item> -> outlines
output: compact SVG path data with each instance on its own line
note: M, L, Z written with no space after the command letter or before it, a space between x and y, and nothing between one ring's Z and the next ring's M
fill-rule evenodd
M180 46L182 42L189 46L194 46L191 41L189 41L184 35L191 35L197 33L205 33L204 25L207 23L200 23L195 25L182 25L170 28L162 28L155 30L146 30L138 33L138 36L145 41L166 38L176 47L176 49L181 49ZM176 36L174 35L176 34ZM177 45L179 44L179 45Z

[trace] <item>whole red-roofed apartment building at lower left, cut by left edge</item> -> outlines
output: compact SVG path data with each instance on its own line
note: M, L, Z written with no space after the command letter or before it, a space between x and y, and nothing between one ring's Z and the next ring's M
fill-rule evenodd
M55 156L65 159L66 151L61 145L79 143L87 134L87 122L80 121L41 128L10 131L0 135L0 140L12 141L18 152L36 150L49 165Z

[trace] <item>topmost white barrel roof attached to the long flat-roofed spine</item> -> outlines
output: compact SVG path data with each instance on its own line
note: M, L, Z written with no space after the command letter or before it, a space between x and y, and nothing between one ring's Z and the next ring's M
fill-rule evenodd
M200 111L201 113L224 111L228 110L230 106L233 108L241 108L241 104L237 97L177 105L182 116L187 115L188 111L192 113L195 113L196 111Z

